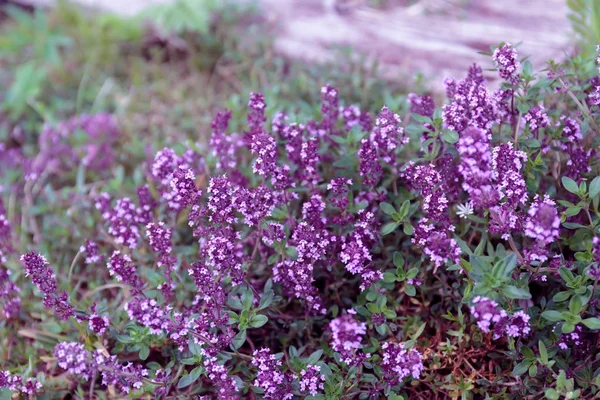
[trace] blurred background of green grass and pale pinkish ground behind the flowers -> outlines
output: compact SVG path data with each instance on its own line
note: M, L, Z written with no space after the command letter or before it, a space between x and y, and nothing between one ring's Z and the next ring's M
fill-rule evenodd
M160 145L202 136L217 106L243 110L250 91L276 99L277 109L312 110L326 82L346 103L398 107L408 92L439 96L443 79L463 77L473 62L490 69L490 47L501 42L516 44L534 69L577 51L593 57L600 43L594 0L4 0L0 7L2 139L109 111L126 132L158 135Z

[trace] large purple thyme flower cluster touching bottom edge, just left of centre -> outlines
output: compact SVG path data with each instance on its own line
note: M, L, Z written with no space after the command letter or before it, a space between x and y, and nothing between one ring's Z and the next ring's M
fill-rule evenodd
M265 400L291 400L294 397L289 377L279 371L281 361L269 349L255 350L252 366L258 370L253 385L264 392Z

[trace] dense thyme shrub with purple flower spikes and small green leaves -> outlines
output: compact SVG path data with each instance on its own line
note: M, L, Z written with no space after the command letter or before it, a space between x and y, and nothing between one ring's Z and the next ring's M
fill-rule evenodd
M135 169L111 151L122 139L107 114L47 125L33 155L3 144L2 341L14 351L0 386L595 396L600 83L578 57L537 77L511 45L492 59L501 88L474 65L446 80L439 108L411 94L371 115L327 85L320 115L303 119L253 93L242 132L223 110L209 143ZM42 190L64 207L36 202ZM40 221L80 240L74 259Z

